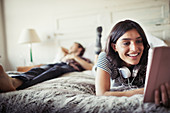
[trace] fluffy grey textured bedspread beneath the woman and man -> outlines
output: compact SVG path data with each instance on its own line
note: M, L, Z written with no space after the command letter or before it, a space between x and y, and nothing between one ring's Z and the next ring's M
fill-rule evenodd
M2 113L170 113L143 104L143 95L95 96L94 76L72 72L26 88L0 94Z

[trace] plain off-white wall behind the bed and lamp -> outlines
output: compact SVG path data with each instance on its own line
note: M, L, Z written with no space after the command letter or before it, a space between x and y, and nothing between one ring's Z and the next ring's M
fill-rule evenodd
M73 41L79 41L84 45L95 42L95 29L98 25L104 27L103 36L106 38L109 29L117 20L129 15L135 18L135 13L139 16L135 20L139 20L142 26L146 29L154 28L155 30L149 30L170 42L169 0L4 0L4 2L7 59L10 63L8 70L27 65L29 61L28 46L17 43L21 31L25 28L35 28L42 40L41 43L33 44L35 64L53 61L59 42L60 45L67 47ZM157 7L159 4L162 5L160 9ZM148 10L150 13L139 15L138 11L134 12L136 9L140 13ZM158 13L160 15L156 13L153 15L152 10L160 12Z

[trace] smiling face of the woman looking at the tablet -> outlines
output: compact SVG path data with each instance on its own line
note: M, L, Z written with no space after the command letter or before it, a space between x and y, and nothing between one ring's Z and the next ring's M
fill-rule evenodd
M138 64L144 50L142 37L136 29L127 31L117 40L116 44L112 43L112 48L118 52L126 66Z

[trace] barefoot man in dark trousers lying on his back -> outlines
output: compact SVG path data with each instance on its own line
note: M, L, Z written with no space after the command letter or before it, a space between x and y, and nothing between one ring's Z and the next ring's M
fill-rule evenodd
M85 48L81 44L75 42L69 50L62 48L62 51L64 56L61 58L61 63L32 68L28 72L15 77L9 77L0 65L0 91L15 91L56 78L65 73L92 69L91 61L82 57Z

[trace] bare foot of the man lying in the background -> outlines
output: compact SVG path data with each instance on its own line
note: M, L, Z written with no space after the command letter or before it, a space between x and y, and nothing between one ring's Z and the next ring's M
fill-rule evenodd
M10 78L0 65L0 90L2 92L14 91L16 88L13 85L12 78Z

